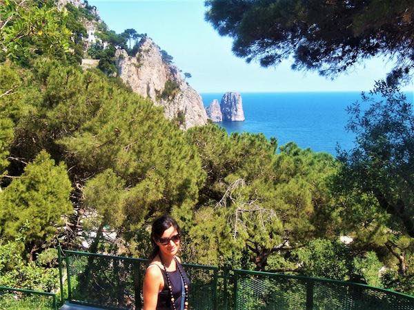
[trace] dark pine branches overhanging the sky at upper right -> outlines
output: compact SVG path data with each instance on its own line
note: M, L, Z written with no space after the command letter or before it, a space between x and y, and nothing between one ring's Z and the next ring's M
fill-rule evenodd
M264 67L293 56L295 70L335 76L371 56L414 65L413 0L208 0L206 20L233 52Z

